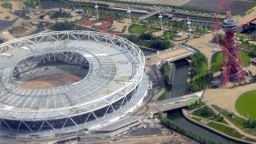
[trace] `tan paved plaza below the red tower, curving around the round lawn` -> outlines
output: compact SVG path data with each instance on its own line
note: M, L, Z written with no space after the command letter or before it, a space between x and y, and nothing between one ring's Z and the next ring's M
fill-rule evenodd
M235 110L235 102L239 96L247 91L255 90L256 83L252 83L246 86L239 86L233 89L210 89L206 90L205 100L210 104L218 105L224 109L238 114ZM241 115L240 115L241 116Z

